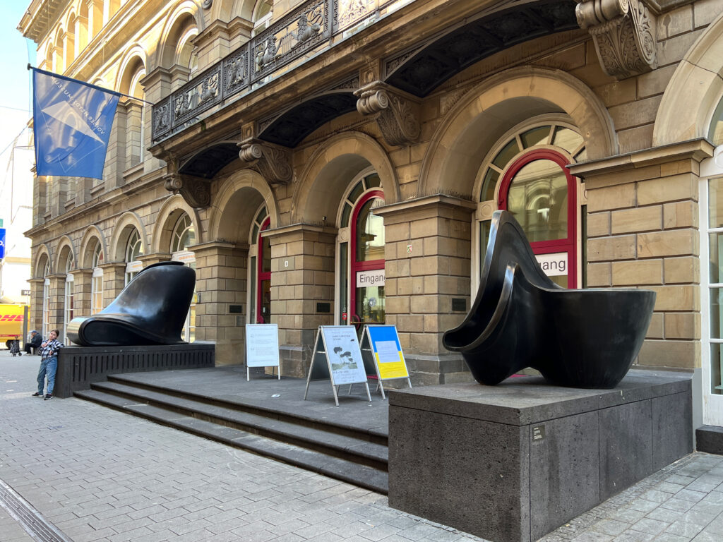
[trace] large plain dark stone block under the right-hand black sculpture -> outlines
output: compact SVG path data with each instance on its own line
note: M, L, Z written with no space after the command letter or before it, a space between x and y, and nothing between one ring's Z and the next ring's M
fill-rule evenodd
M689 374L630 371L614 390L391 390L389 504L495 542L535 541L693 451Z

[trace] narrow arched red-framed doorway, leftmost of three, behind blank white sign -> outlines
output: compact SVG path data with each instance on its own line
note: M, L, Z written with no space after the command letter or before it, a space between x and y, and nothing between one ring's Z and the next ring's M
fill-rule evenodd
M252 250L249 264L251 275L251 299L249 320L252 324L269 324L271 322L271 243L262 232L268 230L271 219L266 206L263 205L256 213L251 232Z

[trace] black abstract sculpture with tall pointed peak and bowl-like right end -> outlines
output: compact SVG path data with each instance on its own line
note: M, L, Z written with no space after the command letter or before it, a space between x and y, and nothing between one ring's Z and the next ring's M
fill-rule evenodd
M480 384L531 367L552 384L611 388L638 355L654 304L653 291L553 283L513 215L497 211L474 304L442 343Z

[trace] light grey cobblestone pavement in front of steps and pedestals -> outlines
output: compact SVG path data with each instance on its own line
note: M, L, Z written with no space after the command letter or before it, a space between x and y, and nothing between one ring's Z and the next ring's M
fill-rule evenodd
M482 541L348 483L82 400L30 397L38 361L0 352L0 481L74 542ZM30 540L0 507L0 541ZM723 541L723 457L685 457L542 540Z

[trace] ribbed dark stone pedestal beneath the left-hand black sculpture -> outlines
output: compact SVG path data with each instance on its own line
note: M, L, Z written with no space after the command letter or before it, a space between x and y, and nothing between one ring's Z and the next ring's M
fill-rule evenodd
M109 374L201 369L215 364L215 344L189 343L163 346L67 346L58 356L53 395L72 397L89 390L92 382Z

